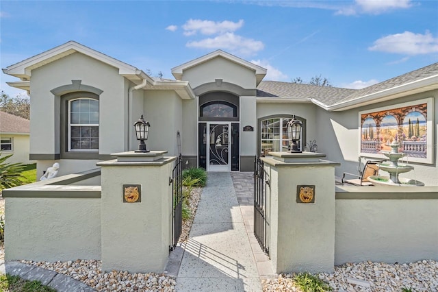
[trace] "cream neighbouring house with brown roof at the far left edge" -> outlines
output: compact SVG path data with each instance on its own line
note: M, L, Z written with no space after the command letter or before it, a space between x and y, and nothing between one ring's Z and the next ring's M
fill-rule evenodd
M1 156L14 154L6 162L34 163L29 160L29 125L28 119L0 111Z

